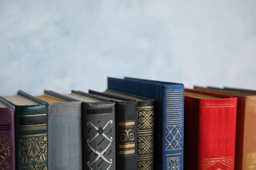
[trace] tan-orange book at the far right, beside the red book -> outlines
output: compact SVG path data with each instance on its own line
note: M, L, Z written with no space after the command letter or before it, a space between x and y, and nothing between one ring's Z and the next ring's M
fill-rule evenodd
M256 169L256 94L199 86L195 89L238 98L235 169Z

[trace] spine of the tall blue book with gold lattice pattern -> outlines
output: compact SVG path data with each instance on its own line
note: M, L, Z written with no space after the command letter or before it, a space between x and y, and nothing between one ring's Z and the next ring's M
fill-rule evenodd
M165 88L163 92L163 169L183 169L184 88Z

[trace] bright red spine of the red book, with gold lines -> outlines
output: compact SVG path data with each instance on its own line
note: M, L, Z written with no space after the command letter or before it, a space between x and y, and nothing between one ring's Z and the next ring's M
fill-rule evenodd
M200 169L234 169L236 100L223 103L201 101L199 107Z

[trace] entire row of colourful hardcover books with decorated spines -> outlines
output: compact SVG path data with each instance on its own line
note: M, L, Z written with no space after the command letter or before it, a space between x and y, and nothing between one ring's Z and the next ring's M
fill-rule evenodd
M0 169L256 169L256 92L108 78L0 96Z

